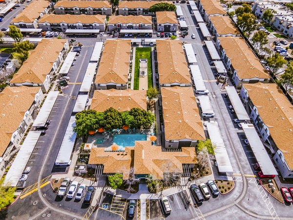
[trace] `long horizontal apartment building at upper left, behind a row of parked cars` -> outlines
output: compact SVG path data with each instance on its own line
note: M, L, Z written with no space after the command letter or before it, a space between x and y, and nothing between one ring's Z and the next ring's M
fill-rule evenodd
M97 29L105 31L105 15L44 15L39 21L39 28L44 31L62 31L67 29Z

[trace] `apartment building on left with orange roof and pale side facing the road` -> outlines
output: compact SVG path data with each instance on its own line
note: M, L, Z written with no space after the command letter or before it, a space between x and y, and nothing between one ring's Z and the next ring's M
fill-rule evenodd
M47 92L69 45L65 39L42 39L10 81L10 86L41 87Z

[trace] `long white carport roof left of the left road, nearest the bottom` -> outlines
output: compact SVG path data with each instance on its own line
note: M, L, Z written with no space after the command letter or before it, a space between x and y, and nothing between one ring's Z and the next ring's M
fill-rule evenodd
M37 144L37 141L41 135L41 132L28 132L21 150L16 155L6 177L4 180L4 186L14 187L20 180L21 174Z

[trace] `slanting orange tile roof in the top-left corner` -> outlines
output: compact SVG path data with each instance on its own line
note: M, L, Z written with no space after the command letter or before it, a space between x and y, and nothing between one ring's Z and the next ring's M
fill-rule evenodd
M22 12L18 14L11 23L25 22L32 23L40 14L47 8L50 4L50 1L47 0L35 0L32 1Z

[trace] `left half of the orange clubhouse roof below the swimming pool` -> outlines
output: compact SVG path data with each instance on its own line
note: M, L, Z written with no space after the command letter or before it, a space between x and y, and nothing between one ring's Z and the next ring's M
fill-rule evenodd
M129 169L134 156L134 147L126 147L125 152L106 152L104 148L92 148L88 164L104 164L104 173L123 173L128 178Z

